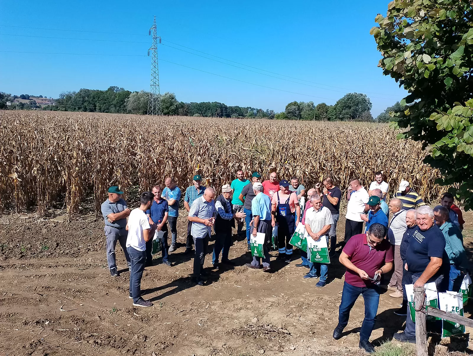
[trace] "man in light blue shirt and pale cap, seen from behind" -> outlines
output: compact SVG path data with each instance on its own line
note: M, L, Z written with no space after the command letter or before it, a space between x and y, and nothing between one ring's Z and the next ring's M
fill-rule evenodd
M271 200L269 196L263 193L263 184L256 182L253 184L255 197L251 202L251 213L253 214L252 235L257 233L264 234L263 243L263 272L271 272L270 254L268 252L268 243L271 241L272 225L271 225ZM253 262L246 263L246 267L252 269L260 268L260 257L253 256Z

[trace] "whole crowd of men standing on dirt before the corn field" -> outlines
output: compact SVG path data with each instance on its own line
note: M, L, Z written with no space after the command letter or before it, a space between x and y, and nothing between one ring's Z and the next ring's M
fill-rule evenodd
M195 246L193 280L198 285L203 286L207 277L203 264L212 228L215 232L214 269L233 264L228 259L232 228L243 235L243 225L249 251L251 236L264 234L264 257L254 256L253 261L246 264L250 269L272 271L269 250L273 245L278 249L277 260L289 263L293 254L289 241L299 223L304 225L307 238L315 241L326 239L329 256L335 256L342 191L333 180L327 177L308 190L297 177L289 181L279 180L277 172L272 172L268 180L261 181L258 172L251 174L250 181L245 179L242 170L238 170L236 179L223 185L221 194L216 196L215 189L201 184L200 175L193 176L193 185L186 189L184 196L184 208L188 212L185 253L191 253ZM168 253L176 249L181 191L172 178L166 178L165 185L164 190L155 186L152 192L142 193L140 208L132 211L121 198L123 192L116 186L109 189L109 197L102 204L110 273L112 276L118 273L114 250L119 242L131 271L130 298L137 306L151 305L140 296L140 279L144 267L151 263L150 242L155 233L161 243L163 263L171 265ZM431 209L407 181L400 182L389 204L386 203L388 191L389 185L381 172L375 173L375 180L368 190L358 179L350 179L346 190L345 234L340 242L342 248L338 251L339 260L347 272L339 323L333 338L342 337L350 309L358 296L363 295L365 319L360 331L360 347L368 352L374 352L369 337L376 321L382 280L392 292L391 297L403 298L402 306L395 313L406 315L406 284L423 286L435 281L439 291L455 291L467 269L461 234L464 220L451 194L445 193L440 205ZM169 248L168 222L172 234ZM276 226L276 240L272 242L272 231ZM304 278L318 278L316 287L324 287L328 264L312 263L308 257L302 252L301 263L296 266L307 268ZM385 278L385 275L389 277ZM406 317L404 332L394 337L415 342L415 328L409 316Z

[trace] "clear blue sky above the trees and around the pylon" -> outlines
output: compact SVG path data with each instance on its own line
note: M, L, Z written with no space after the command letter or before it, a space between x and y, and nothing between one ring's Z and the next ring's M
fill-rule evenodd
M148 30L156 15L158 35L167 44L158 48L159 59L163 60L159 62L161 93L173 92L185 102L218 101L282 111L294 100L335 104L345 93L358 91L370 97L376 116L406 95L394 79L383 76L377 68L381 56L369 35L374 18L386 13L388 2L83 0L47 1L19 9L7 7L5 0L0 0L0 91L57 97L80 88L149 90ZM257 72L265 69L298 79L264 72L278 77L272 78L231 67L176 50L172 47L210 57L174 43L256 67L244 68Z

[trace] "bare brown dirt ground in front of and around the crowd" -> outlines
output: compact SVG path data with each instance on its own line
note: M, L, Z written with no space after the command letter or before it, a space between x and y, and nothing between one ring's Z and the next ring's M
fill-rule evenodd
M185 242L186 215L179 220ZM120 276L110 276L103 222L91 215L65 223L0 217L0 354L2 355L363 355L358 348L364 305L360 297L344 337L332 338L344 269L333 260L329 283L303 279L305 268L272 259L274 273L244 267L244 240L230 249L234 267L212 271L204 287L191 282L192 256L183 245L172 267L146 269L141 287L151 308L133 307L129 272L117 245ZM466 214L471 221L473 215ZM471 223L465 247L473 247ZM339 222L339 239L344 220ZM210 243L209 252L212 251ZM277 252L272 252L275 256ZM337 255L338 256L338 255ZM211 270L211 254L205 267ZM393 311L400 299L383 294L371 339L379 345L402 329ZM468 309L467 309L468 310ZM451 349L448 339L444 343ZM463 345L464 347L465 345ZM444 347L444 349L447 349ZM436 353L437 354L437 353Z

